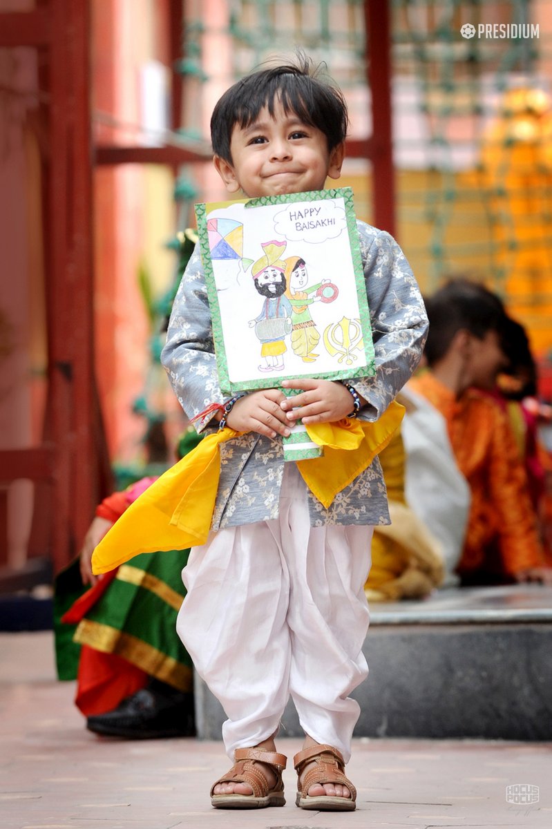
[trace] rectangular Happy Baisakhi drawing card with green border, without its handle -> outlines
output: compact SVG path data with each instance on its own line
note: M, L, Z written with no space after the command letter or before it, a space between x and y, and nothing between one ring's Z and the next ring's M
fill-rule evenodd
M196 205L221 389L374 371L350 188Z

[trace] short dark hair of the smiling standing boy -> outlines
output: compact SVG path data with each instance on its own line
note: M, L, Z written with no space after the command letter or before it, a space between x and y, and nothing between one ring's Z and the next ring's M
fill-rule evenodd
M341 90L320 77L321 67L302 51L296 63L262 69L239 80L219 99L211 116L213 153L232 163L230 139L235 124L244 129L253 124L264 106L274 116L274 103L281 101L286 114L293 112L326 135L331 152L346 138L349 116Z

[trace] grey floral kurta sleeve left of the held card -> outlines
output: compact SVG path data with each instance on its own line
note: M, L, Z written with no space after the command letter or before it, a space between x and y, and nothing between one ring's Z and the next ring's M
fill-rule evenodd
M211 308L199 245L191 255L172 306L167 342L161 354L172 388L191 419L213 403L222 403L216 371ZM198 432L212 419L206 414L194 424Z

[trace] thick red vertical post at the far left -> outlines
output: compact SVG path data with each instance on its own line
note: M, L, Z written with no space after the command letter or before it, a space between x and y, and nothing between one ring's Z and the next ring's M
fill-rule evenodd
M98 497L94 446L90 2L51 0L48 268L53 560L82 541Z

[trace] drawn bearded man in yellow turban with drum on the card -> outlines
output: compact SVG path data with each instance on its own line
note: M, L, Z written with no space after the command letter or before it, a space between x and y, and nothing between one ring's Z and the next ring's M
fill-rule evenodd
M285 246L285 242L276 241L261 245L264 255L254 262L251 269L254 286L264 297L261 313L249 320L249 327L255 328L255 334L262 343L264 364L259 366L259 371L283 371L283 355L288 350L284 337L291 332L292 307L284 295L285 264L279 258Z

